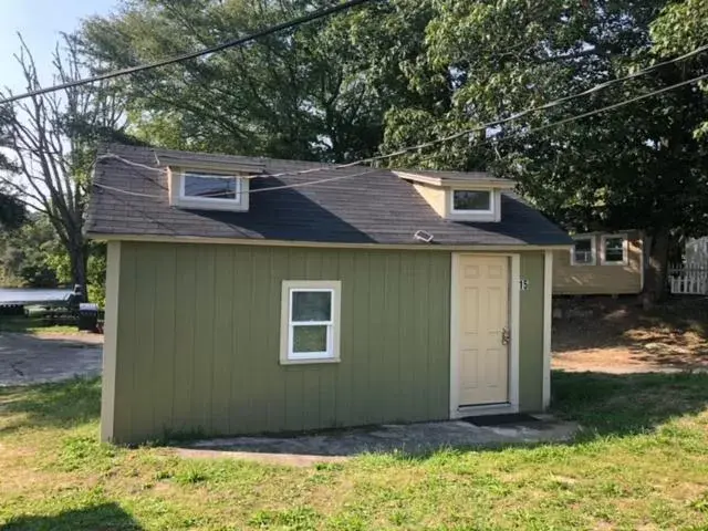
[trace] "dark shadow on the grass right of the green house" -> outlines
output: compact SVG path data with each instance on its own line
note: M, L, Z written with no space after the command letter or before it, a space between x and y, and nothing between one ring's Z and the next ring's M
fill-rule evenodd
M552 376L552 413L589 435L634 435L708 407L706 373L564 373Z

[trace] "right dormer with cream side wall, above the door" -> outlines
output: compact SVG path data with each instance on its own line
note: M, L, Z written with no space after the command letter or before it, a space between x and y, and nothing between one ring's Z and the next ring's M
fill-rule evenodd
M500 221L501 191L514 183L481 171L397 170L445 219L452 221Z

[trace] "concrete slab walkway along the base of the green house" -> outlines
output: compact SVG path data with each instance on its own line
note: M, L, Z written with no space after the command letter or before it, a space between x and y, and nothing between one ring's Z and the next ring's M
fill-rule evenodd
M386 425L299 437L236 437L201 440L180 448L185 457L232 457L260 462L310 466L377 451L421 454L449 447L498 447L510 444L571 440L579 426L538 415L540 421L475 426L467 421Z

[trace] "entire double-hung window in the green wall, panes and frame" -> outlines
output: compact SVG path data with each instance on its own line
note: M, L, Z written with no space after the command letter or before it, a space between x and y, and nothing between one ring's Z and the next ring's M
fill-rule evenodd
M281 364L340 361L340 281L284 280Z

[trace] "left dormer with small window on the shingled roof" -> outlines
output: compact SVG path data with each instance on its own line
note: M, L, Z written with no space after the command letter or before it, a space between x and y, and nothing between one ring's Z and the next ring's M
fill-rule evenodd
M250 177L263 173L251 163L214 160L160 160L167 165L169 205L198 210L247 212Z

